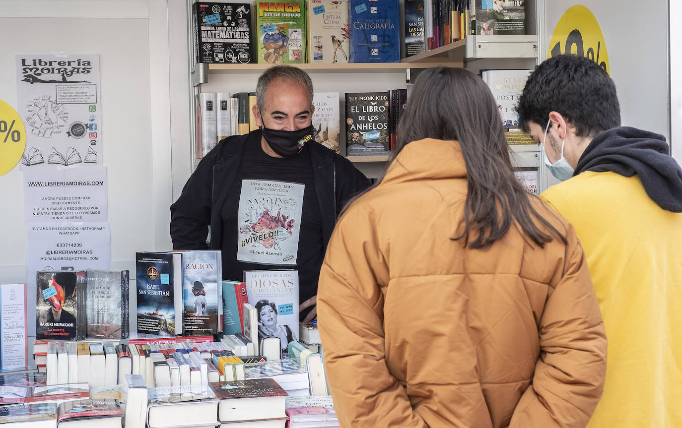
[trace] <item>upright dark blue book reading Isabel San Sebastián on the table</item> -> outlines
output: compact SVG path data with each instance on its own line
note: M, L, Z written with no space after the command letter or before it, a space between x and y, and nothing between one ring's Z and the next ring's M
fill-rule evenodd
M173 337L182 332L182 266L180 254L138 252L137 333ZM177 266L176 266L177 264Z

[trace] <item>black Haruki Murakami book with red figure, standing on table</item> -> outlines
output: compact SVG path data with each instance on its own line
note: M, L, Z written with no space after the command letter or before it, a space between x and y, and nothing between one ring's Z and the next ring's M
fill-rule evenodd
M80 273L84 275L84 273ZM36 339L77 340L78 297L75 271L38 271Z

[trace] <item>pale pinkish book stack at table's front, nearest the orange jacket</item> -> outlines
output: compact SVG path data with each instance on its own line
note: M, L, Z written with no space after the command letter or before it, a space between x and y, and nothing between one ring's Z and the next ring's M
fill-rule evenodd
M334 404L329 395L286 397L284 408L286 416L289 417L288 428L332 428L340 426L334 411Z

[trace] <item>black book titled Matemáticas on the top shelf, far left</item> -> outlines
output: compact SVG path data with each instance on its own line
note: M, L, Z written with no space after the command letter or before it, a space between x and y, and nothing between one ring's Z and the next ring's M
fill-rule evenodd
M198 63L250 63L253 59L250 3L197 1L192 15Z

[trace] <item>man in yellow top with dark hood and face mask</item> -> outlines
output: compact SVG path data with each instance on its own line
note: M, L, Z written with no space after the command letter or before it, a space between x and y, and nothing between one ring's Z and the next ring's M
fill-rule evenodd
M576 229L604 317L588 426L682 427L682 170L666 139L621 126L614 82L572 55L537 67L518 114L563 181L541 196Z

